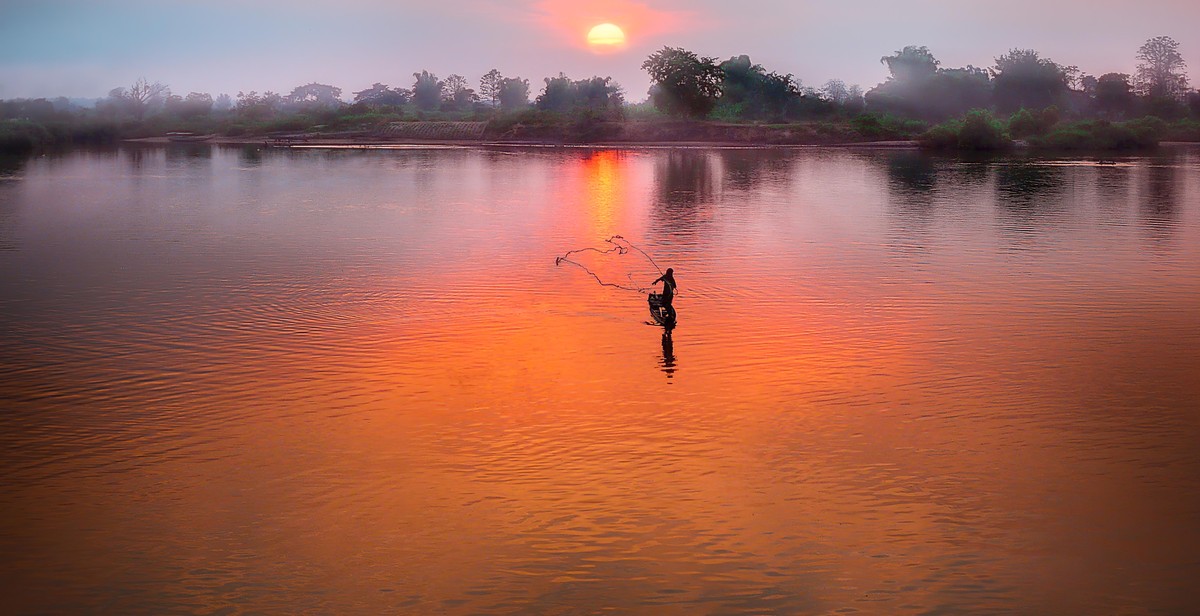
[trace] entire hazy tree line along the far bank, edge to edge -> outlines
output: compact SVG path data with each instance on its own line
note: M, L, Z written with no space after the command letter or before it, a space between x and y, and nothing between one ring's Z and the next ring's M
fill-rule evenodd
M863 137L914 136L931 124L980 109L1007 116L1004 131L1016 138L1045 133L1064 118L1122 121L1192 115L1200 120L1200 94L1189 88L1177 42L1168 36L1151 38L1135 58L1132 74L1091 76L1033 49L1010 49L982 68L946 67L928 47L907 46L880 59L888 77L863 91L839 79L806 86L793 74L767 70L746 55L719 61L664 47L642 62L652 86L648 101L632 106L608 77L572 79L559 73L542 79L540 92L533 96L528 79L494 68L476 86L461 74L440 78L422 70L412 73L407 86L374 83L350 92L349 100L341 88L320 83L299 85L288 94L239 91L214 97L178 95L162 83L138 79L114 88L91 108L66 98L0 101L0 137L24 131L34 142L53 142L55 134L42 133L59 131L67 138L58 136L58 140L100 140L174 127L238 134L414 119L494 121L505 114L566 118L582 128L631 113L637 119L844 121Z

